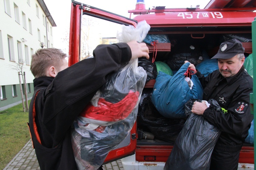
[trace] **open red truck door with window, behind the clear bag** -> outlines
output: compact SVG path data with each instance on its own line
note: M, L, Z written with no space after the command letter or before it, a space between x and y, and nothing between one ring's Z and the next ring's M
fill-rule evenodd
M136 27L137 21L72 1L69 66L91 57L93 50L99 44L117 43L116 33L122 25ZM134 154L137 145L136 128L135 123L127 138L108 154L104 163Z

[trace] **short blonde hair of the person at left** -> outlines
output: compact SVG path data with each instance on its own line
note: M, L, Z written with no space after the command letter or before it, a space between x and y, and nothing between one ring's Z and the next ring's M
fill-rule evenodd
M30 70L35 78L46 76L47 68L54 66L59 69L66 57L67 55L57 48L39 49L31 56Z

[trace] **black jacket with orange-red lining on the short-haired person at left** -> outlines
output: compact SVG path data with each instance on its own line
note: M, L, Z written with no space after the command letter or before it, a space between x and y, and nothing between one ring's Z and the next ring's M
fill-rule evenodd
M70 127L106 77L131 59L126 43L99 45L93 54L55 78L34 79L29 128L41 170L76 169Z

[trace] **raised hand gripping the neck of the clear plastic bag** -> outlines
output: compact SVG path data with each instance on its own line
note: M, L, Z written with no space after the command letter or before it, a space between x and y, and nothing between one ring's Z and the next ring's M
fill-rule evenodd
M130 41L127 43L131 48L131 59L146 57L149 59L149 50L145 43L138 43L137 41Z

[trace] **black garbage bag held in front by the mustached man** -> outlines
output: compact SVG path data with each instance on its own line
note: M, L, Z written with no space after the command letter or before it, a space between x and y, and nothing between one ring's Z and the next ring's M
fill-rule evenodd
M201 115L190 110L195 101L190 99L185 104L188 119L177 137L171 154L166 161L165 170L207 170L210 168L211 154L221 131L205 120ZM221 110L217 101L208 101L216 110Z

